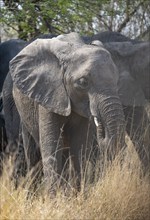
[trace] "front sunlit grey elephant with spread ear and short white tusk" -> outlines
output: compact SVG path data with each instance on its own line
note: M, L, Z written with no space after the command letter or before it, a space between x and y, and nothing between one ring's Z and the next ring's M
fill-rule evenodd
M80 180L81 161L91 152L93 117L99 145L109 146L108 154L119 151L115 147L118 139L120 147L124 145L117 69L103 47L85 45L75 33L39 39L10 62L10 72L27 169L41 155L49 187L61 175L65 149L69 149Z

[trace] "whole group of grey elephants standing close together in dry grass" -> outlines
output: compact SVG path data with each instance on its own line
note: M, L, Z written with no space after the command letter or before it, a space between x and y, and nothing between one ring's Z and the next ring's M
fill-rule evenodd
M150 42L109 31L1 43L1 172L3 155L16 152L16 186L41 166L55 191L71 158L80 187L86 161L95 164L104 152L113 160L126 147L126 133L148 172L149 54Z

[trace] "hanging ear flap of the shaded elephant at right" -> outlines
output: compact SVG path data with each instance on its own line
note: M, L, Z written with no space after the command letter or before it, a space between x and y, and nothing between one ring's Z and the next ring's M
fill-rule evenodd
M125 106L143 106L146 103L142 89L127 71L119 76L118 93Z

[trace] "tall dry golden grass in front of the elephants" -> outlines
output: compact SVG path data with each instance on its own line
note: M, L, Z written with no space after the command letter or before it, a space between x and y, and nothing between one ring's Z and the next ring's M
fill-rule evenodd
M78 194L59 191L50 199L44 191L32 200L27 189L14 190L8 167L0 179L0 220L149 220L150 182L142 176L132 145L121 165L119 157L105 175Z

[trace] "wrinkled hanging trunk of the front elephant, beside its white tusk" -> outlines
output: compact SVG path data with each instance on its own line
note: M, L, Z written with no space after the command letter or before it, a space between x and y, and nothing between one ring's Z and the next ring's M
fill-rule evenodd
M96 98L97 99L97 98ZM97 139L100 149L107 152L107 156L114 156L125 146L125 119L122 105L118 96L99 97L94 112L97 127Z

